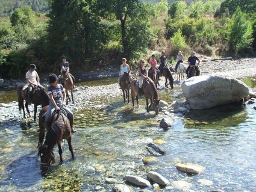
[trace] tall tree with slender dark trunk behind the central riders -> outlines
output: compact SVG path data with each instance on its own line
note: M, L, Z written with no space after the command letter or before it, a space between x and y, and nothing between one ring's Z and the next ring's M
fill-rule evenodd
M150 7L139 0L99 1L102 16L108 18L114 14L120 21L123 57L131 58L136 51L145 51L152 36L149 28Z

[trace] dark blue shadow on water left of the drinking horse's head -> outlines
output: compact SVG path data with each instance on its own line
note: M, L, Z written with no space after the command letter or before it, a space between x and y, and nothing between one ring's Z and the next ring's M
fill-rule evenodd
M20 158L12 161L6 169L7 178L1 185L16 185L19 189L31 187L40 180L40 163L37 161L37 151L33 150Z

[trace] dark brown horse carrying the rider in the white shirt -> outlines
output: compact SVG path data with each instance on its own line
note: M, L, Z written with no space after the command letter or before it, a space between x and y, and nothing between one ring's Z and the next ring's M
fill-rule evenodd
M25 107L28 113L28 117L31 117L30 110L28 108L28 85L22 85L18 87L17 96L19 102L19 111L21 111L21 109L23 110L23 118L26 119L24 100L26 101ZM46 91L42 88L36 88L32 94L32 104L34 104L34 121L36 121L37 106L42 105L42 107L45 107L46 105L49 105L49 96Z

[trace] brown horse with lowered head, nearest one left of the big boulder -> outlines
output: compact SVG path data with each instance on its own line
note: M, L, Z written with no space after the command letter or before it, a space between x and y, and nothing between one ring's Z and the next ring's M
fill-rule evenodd
M151 105L153 104L154 106L154 110L155 110L155 114L159 113L159 94L158 94L158 90L155 87L154 82L149 78L149 79L144 79L143 81L143 92L145 95L145 99L146 99L146 108L147 108L147 112L149 113L149 108L151 107ZM139 107L139 84L137 85L137 78L134 78L131 81L131 100L133 102L133 108L134 108L134 100L136 98L137 101L137 107ZM148 105L148 99L150 99L151 104Z

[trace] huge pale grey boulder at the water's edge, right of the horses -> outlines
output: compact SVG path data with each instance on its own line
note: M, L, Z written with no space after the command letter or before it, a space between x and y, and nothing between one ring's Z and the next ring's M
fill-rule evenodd
M181 84L192 110L238 102L249 94L248 86L226 73L213 73L186 79Z

